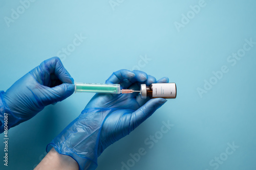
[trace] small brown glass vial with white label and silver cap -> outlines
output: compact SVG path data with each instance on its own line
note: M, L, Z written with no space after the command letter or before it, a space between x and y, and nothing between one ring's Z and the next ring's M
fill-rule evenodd
M176 98L176 84L175 83L152 83L149 87L146 84L140 85L140 95L142 99L150 98Z

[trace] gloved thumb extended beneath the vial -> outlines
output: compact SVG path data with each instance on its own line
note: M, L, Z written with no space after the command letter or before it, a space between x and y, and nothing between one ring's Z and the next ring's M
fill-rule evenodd
M132 113L131 126L134 130L142 122L144 122L148 117L150 117L157 109L159 109L167 100L163 98L151 99L138 110Z

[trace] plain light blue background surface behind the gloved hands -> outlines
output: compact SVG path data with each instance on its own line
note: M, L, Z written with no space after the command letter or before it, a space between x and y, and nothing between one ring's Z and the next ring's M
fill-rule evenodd
M129 136L106 149L98 170L121 169L139 148L146 154L130 169L256 169L256 44L236 65L227 61L243 48L245 39L256 41L256 2L205 0L206 6L193 16L189 6L198 4L119 0L112 8L109 0L35 1L25 11L20 8L21 14L8 27L5 17L11 18L12 9L17 11L22 4L1 0L0 89L6 91L81 34L87 38L61 58L76 82L104 83L113 71L136 68L157 79L169 77L178 91L177 99L168 100ZM178 31L175 22L181 23L187 13L191 19ZM145 56L148 61L140 61ZM212 71L223 65L229 71L221 79L212 78ZM218 82L201 98L197 89L210 79ZM73 94L10 129L8 168L3 165L1 134L0 169L33 169L45 156L46 145L92 96ZM174 127L148 148L144 140L167 120ZM227 143L233 142L239 148L226 158ZM218 167L209 164L220 156L225 160Z

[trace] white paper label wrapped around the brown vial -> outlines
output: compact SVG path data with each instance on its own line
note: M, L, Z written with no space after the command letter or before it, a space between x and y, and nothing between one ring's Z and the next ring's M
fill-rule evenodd
M153 98L154 97L174 97L176 96L175 83L155 83L152 84Z

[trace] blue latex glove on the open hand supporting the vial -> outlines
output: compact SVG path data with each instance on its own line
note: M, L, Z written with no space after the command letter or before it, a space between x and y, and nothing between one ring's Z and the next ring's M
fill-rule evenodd
M122 88L138 90L140 84L167 83L142 71L119 70L106 83L120 83ZM112 143L128 135L150 117L166 100L141 99L139 93L95 94L86 108L66 129L48 144L63 155L75 159L79 169L95 169L97 157Z

